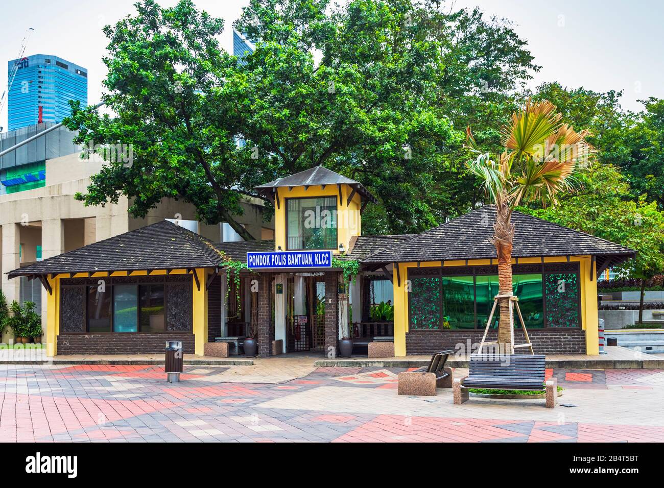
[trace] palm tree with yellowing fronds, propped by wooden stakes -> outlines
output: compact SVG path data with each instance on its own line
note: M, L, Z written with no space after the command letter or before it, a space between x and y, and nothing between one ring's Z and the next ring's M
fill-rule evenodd
M521 112L512 114L502 129L500 154L483 153L467 129L469 147L479 155L466 163L467 169L483 183L487 197L495 204L496 218L491 243L498 258L499 295L512 295L512 244L515 226L512 210L528 201L542 206L558 204L561 191L570 189L572 173L593 153L586 141L588 131L576 132L565 123L548 100L528 100ZM498 343L511 348L509 298L499 299Z

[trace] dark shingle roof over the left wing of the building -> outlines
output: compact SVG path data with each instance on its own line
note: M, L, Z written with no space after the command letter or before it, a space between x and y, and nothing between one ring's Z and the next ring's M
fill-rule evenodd
M212 268L227 258L212 241L168 220L100 240L9 272L9 276Z

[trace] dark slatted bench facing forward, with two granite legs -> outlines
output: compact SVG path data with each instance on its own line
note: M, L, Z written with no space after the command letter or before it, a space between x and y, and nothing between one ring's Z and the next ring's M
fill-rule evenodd
M544 384L545 359L544 355L471 356L468 375L454 380L454 404L468 400L468 388L489 388L546 392L546 408L554 408L558 398L558 382L556 378L550 378Z

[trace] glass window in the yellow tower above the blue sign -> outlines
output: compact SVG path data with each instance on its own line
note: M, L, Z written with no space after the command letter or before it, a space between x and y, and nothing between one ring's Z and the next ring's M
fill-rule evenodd
M288 249L337 248L337 197L286 200Z

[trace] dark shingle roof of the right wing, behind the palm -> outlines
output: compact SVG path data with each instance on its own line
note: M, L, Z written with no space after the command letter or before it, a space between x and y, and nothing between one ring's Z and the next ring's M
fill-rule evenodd
M404 261L440 261L495 258L495 247L489 242L493 233L493 205L434 227L422 234L398 240L389 249L362 261L386 263ZM513 212L515 238L512 256L596 255L612 256L614 262L631 258L635 251L578 230L547 222L521 212Z

